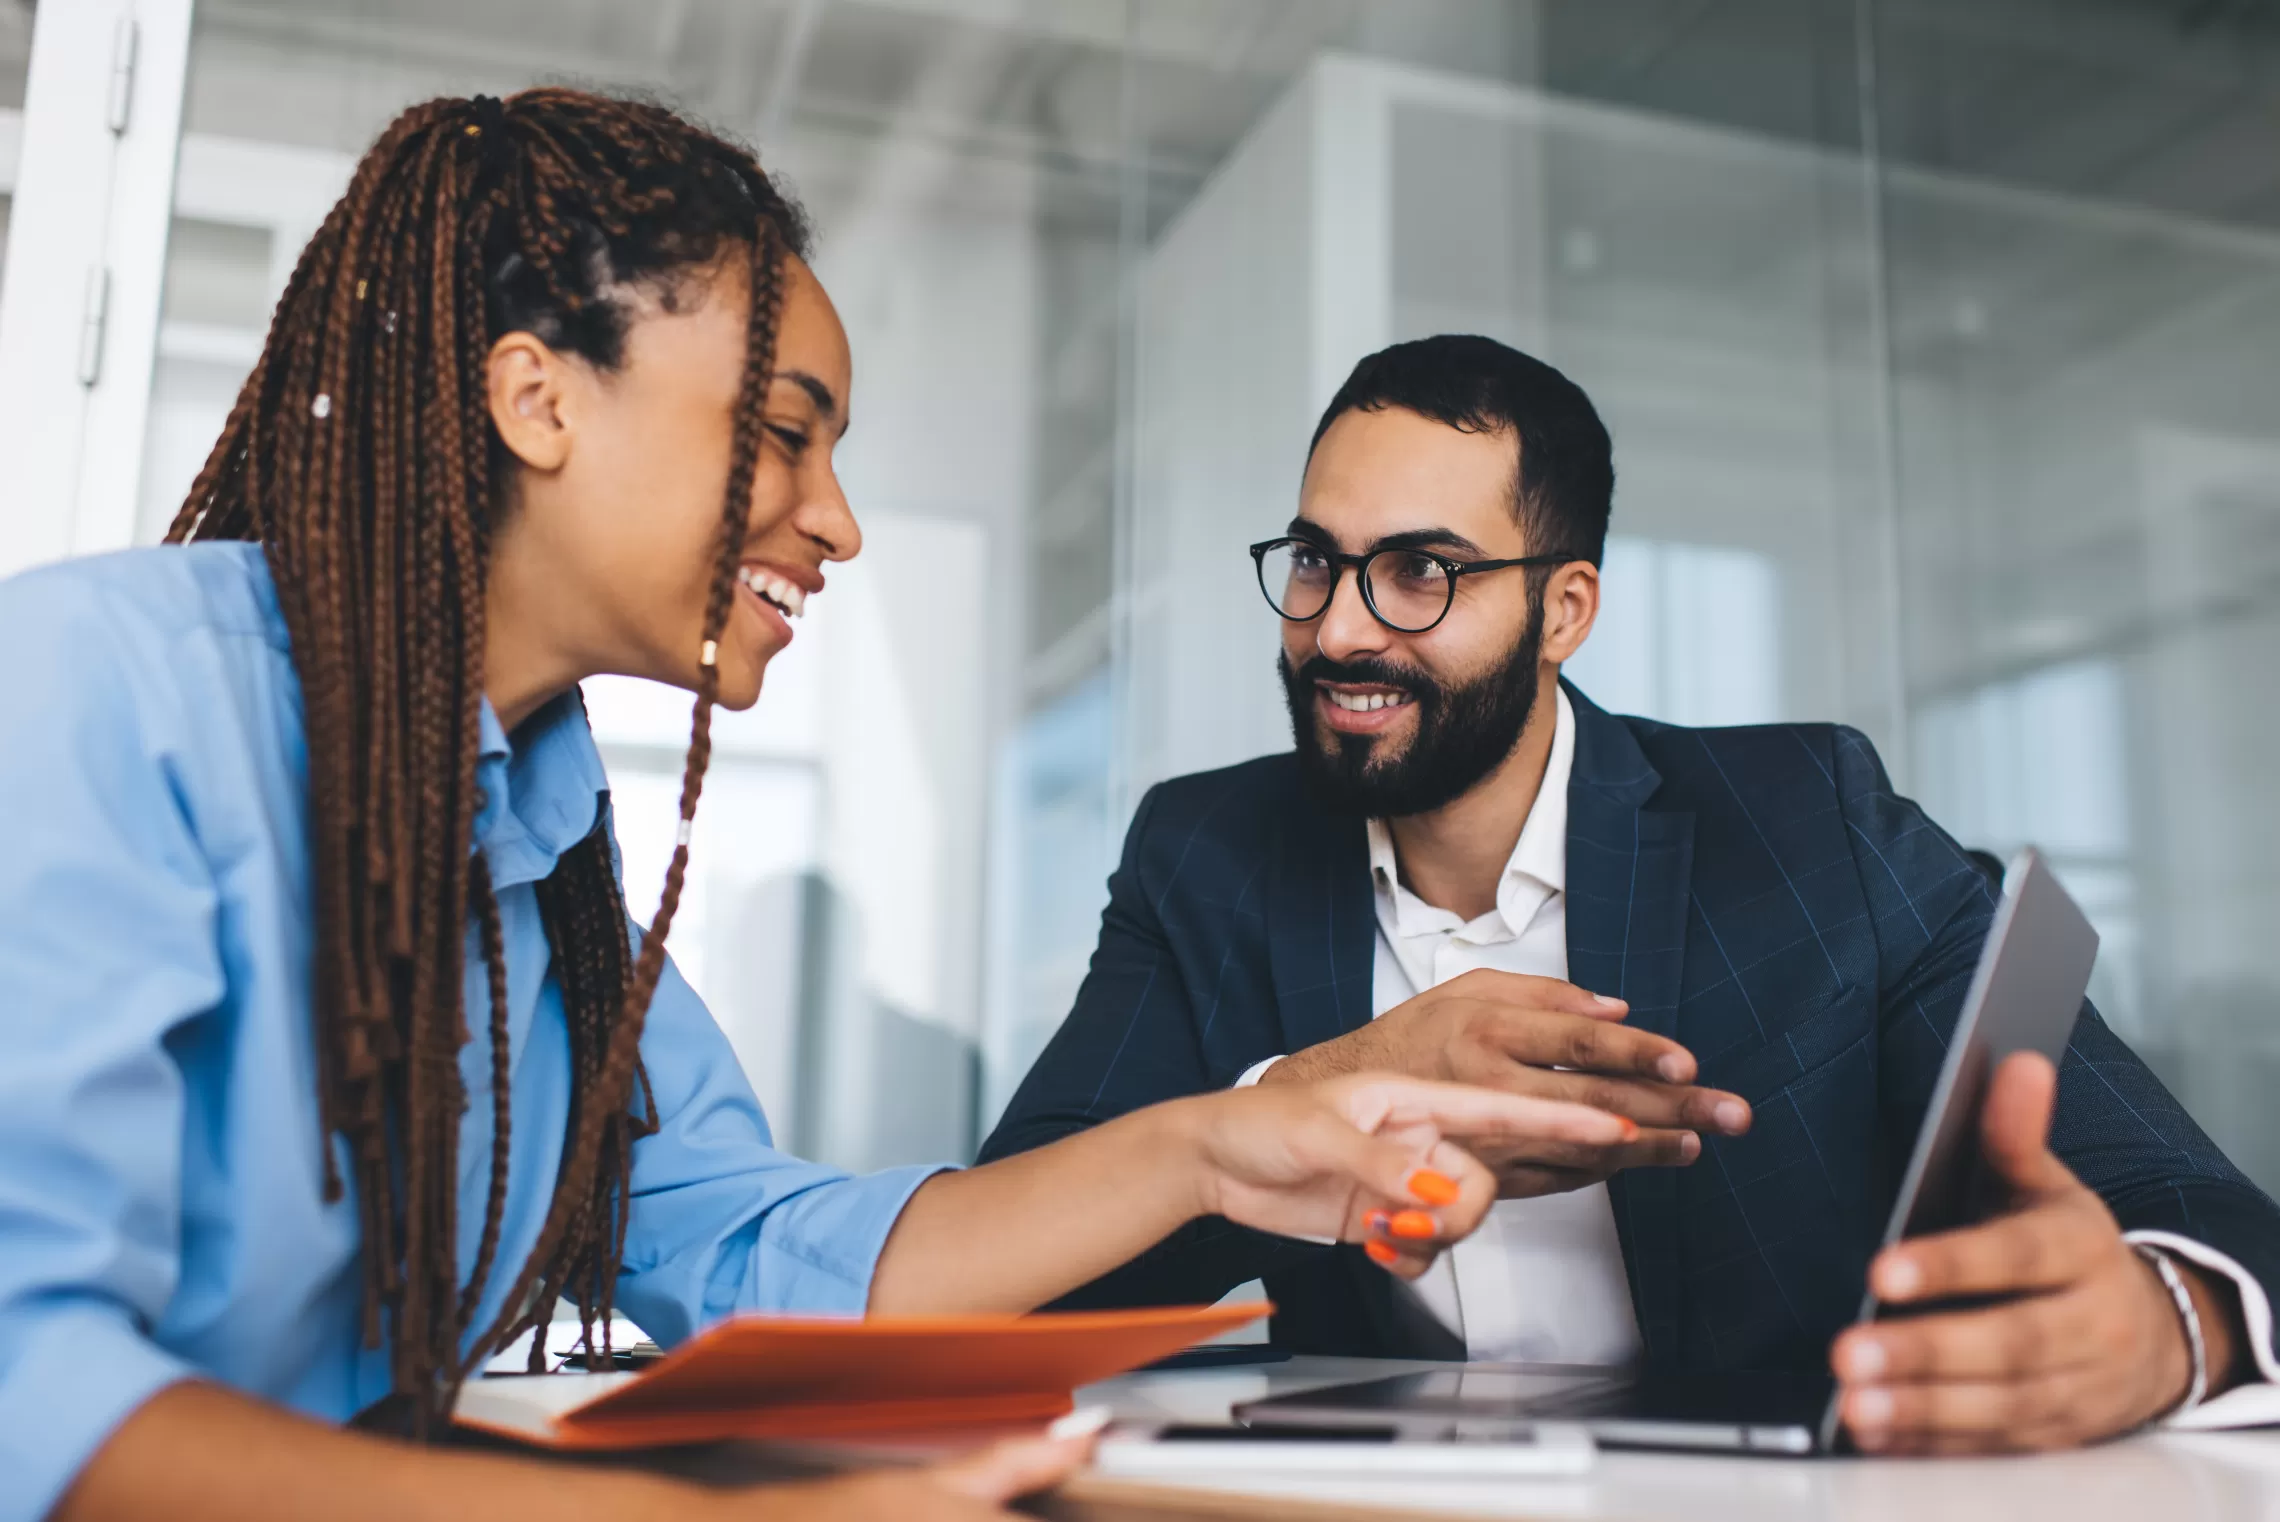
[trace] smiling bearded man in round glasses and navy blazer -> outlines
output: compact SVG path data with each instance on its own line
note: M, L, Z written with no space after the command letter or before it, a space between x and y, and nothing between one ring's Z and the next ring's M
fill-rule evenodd
M2009 1210L1876 1255L1995 895L1851 729L1678 729L1560 679L1612 492L1548 365L1434 337L1354 369L1252 547L1295 750L1149 791L983 1155L1373 1069L1637 1132L1489 1157L1500 1203L1430 1269L1402 1217L1366 1249L1204 1221L1067 1303L1263 1278L1293 1351L1833 1367L1879 1451L2091 1442L2273 1378L2280 1210L2088 1005L2057 1073L1997 1073ZM1929 1312L1847 1328L1865 1280Z

